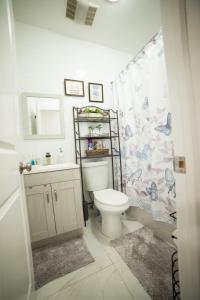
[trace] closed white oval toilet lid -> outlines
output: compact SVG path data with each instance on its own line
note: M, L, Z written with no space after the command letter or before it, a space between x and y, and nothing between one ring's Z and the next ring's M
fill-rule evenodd
M120 206L128 202L128 197L124 193L112 189L96 191L94 197L96 201L104 205Z

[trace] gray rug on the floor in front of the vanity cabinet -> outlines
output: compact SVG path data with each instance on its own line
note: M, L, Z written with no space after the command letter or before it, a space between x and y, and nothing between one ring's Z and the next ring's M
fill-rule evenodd
M94 262L82 238L33 250L35 288Z

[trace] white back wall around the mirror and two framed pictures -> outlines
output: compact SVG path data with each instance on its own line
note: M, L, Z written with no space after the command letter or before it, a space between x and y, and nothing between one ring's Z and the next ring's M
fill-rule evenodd
M111 108L110 81L124 68L131 56L19 22L16 22L16 40L20 93L64 96L64 78L84 80L86 93L85 98L64 97L64 140L27 141L21 137L18 151L22 158L27 154L44 157L47 151L55 158L58 148L62 147L66 161L74 161L72 106L88 105L87 83L99 82L104 85L104 103L99 106Z

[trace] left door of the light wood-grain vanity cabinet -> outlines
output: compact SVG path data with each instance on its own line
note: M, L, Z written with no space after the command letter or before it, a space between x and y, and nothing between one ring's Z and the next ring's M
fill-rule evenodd
M51 186L26 188L31 241L56 235Z

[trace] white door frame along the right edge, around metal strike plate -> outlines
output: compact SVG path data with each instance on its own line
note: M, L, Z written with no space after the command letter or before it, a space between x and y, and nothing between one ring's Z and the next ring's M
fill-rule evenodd
M200 295L200 2L161 0L161 19L173 112L175 156L185 156L186 173L176 173L179 276L182 300ZM197 26L199 25L199 27ZM196 57L195 54L196 53Z

